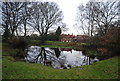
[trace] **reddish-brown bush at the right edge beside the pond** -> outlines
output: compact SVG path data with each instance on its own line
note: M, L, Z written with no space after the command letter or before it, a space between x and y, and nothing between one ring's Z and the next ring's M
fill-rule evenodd
M100 43L108 51L103 50L104 54L112 54L113 56L120 54L120 28L112 26L101 38Z

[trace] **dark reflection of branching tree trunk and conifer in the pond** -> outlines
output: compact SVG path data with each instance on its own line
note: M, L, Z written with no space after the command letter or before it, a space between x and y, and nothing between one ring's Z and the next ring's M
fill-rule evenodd
M52 62L58 61L60 51L58 48L46 50L44 47L41 48L39 55L36 57L36 62L43 63L45 65L51 65Z

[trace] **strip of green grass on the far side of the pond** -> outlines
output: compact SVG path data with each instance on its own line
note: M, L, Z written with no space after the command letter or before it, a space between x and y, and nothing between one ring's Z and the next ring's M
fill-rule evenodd
M41 41L32 40L30 45L40 45ZM77 42L61 42L61 41L46 41L45 45L40 45L41 47L49 48L72 48L72 49L81 49L82 45L86 43L77 43Z

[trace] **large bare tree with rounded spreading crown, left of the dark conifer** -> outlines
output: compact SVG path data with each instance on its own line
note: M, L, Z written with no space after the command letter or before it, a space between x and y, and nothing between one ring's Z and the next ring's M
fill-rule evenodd
M46 40L48 30L63 19L62 11L53 2L33 2L29 12L31 13L29 24L39 32L42 41Z

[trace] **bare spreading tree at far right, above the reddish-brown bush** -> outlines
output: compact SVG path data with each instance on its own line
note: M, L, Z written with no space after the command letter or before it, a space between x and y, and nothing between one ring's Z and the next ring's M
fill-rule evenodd
M108 32L110 25L117 21L118 7L117 1L95 2L94 4L94 21L101 35Z

